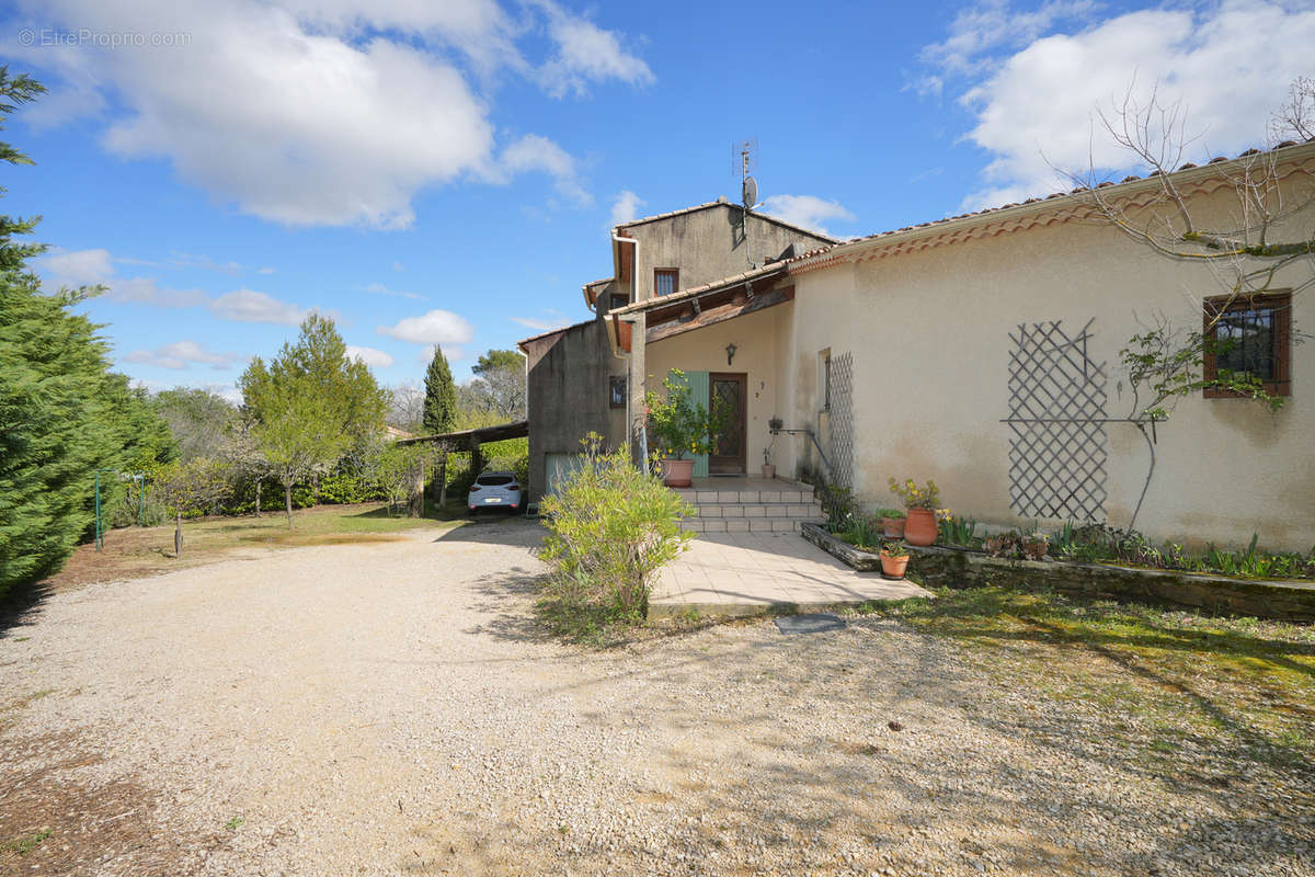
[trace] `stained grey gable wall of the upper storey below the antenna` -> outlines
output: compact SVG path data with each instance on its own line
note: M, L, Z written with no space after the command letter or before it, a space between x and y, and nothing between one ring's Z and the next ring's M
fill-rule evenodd
M655 268L679 268L679 289L688 289L761 267L792 243L805 250L827 243L753 214L748 217L746 241L740 216L738 206L725 204L626 229L639 242L635 301L652 298Z

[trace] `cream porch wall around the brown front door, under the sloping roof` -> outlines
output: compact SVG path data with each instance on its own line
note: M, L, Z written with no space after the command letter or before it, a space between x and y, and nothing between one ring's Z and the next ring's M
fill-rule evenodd
M661 381L672 368L746 375L748 410L744 418L744 465L750 475L757 475L763 465L763 448L772 440L767 422L778 414L778 339L788 308L789 305L765 308L646 347L647 384L659 394L665 393ZM735 360L727 366L726 346L730 343L735 344Z

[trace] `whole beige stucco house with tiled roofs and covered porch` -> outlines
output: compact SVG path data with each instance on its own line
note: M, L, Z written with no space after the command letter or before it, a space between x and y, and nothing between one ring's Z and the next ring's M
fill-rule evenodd
M1311 241L1315 142L1262 158L1285 210L1268 241ZM1166 179L1214 227L1240 227L1230 175L1255 160ZM738 262L719 249L735 239L722 225L734 206L618 226L613 277L584 287L594 318L522 342L531 467L546 467L531 480L551 485L571 433L638 442L644 392L680 368L738 412L700 463L710 476L756 472L765 451L778 473L815 472L868 508L893 502L890 477L934 479L943 505L985 523L1135 519L1157 540L1231 546L1256 531L1270 550L1308 551L1315 350L1298 342L1315 325L1315 258L1285 263L1270 295L1228 302L1215 327L1218 271L1153 252L1093 208L1099 196L1153 218L1161 185L1130 178L847 242L780 225L773 237L751 214L746 237L761 243ZM700 210L718 220L692 222ZM679 235L663 226L676 217ZM1286 405L1198 391L1152 422L1120 351L1160 321L1177 337L1233 333L1230 356ZM540 425L551 440L535 444Z

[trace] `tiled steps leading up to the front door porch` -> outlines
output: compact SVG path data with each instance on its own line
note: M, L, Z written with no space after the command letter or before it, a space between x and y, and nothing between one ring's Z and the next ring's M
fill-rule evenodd
M680 525L693 533L798 533L806 521L826 521L813 485L786 479L698 479L676 493L697 510Z

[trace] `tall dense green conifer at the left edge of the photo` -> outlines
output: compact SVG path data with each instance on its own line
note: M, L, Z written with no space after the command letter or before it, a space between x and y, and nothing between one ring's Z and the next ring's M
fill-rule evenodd
M0 120L45 88L0 67ZM32 164L8 143L0 159ZM67 560L93 526L96 469L139 471L172 454L143 393L108 371L100 326L72 306L95 289L45 295L18 243L36 224L0 216L0 594ZM103 479L116 500L117 477Z

